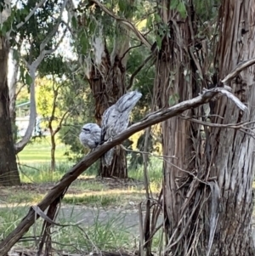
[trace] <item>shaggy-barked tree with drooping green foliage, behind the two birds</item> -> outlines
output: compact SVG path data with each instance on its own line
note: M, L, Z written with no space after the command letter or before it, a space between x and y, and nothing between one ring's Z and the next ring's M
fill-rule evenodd
M73 20L73 31L79 38L78 52L86 54L82 63L94 96L95 120L100 125L105 109L116 103L127 91L126 71L127 57L131 50L131 31L122 22L112 19L111 15L105 15L105 10L97 4L81 3L77 14L73 14L72 9L69 9L69 14ZM128 22L137 15L133 0L116 1L114 4L106 1L105 4L116 11L120 19ZM75 21L76 17L78 21ZM131 87L132 84L128 86L129 89ZM103 177L127 178L126 152L118 148L111 167L103 167L101 164L99 173Z

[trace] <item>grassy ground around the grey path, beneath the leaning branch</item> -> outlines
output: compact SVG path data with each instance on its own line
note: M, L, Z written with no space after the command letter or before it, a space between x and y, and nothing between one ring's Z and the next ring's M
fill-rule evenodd
M19 154L21 186L0 187L0 240L19 225L32 204L40 202L57 181L75 164L68 162L65 145L58 144L56 149L57 168L50 175L50 143L49 138L37 141L26 146ZM138 238L133 231L127 231L127 222L122 216L112 214L108 219L101 220L97 210L105 209L111 213L114 209L121 209L135 215L139 202L144 202L144 173L143 168L128 170L129 179L101 179L97 177L98 164L95 163L79 179L73 182L65 194L62 206L71 208L71 215L58 219L60 224L71 224L70 227L54 227L52 236L53 245L57 249L75 253L77 250L90 252L95 248L100 250L126 251L138 248ZM161 161L152 159L149 167L150 189L153 196L161 190ZM90 225L79 224L75 221L77 209L80 218L86 218L86 209L94 209L94 219ZM129 217L130 218L130 217ZM135 217L138 218L138 217ZM130 220L130 219L129 219ZM42 219L37 220L26 236L39 236L42 228ZM153 247L157 248L161 235L156 235ZM18 243L21 247L34 248L35 242Z

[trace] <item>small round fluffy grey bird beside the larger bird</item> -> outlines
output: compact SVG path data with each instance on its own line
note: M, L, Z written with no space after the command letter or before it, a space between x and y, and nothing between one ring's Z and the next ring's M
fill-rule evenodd
M93 150L101 142L101 128L96 123L87 123L83 125L79 139L82 145Z

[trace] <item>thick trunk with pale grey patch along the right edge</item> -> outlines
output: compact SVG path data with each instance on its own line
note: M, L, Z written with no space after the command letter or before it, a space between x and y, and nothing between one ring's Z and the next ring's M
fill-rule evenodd
M230 7L230 9L229 9ZM238 63L255 57L255 3L252 0L222 1L219 13L218 77L223 79ZM247 103L242 113L226 99L218 100L213 111L214 122L254 122L255 65L241 72L229 86ZM217 176L221 191L218 225L212 254L255 255L251 234L253 209L254 139L233 129L212 129L212 176Z

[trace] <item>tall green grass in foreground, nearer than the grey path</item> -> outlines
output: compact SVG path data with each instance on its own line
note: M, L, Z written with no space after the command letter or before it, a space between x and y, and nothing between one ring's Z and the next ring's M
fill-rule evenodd
M0 208L0 240L4 239L8 234L19 225L28 206L16 206ZM99 219L99 212L94 211L94 219L90 221L90 225L77 224L72 219L77 219L77 214L73 208L71 216L68 219L61 217L57 222L62 225L70 225L65 228L54 226L52 230L52 242L54 248L65 249L69 253L91 252L94 249L111 250L112 248L128 248L130 242L130 234L124 227L124 218L122 216L114 216L107 220ZM22 247L34 247L35 242L26 241L26 237L40 236L42 230L42 219L38 219L33 228L28 230L26 236L18 242ZM23 242L22 242L23 241ZM24 242L26 241L26 242Z

